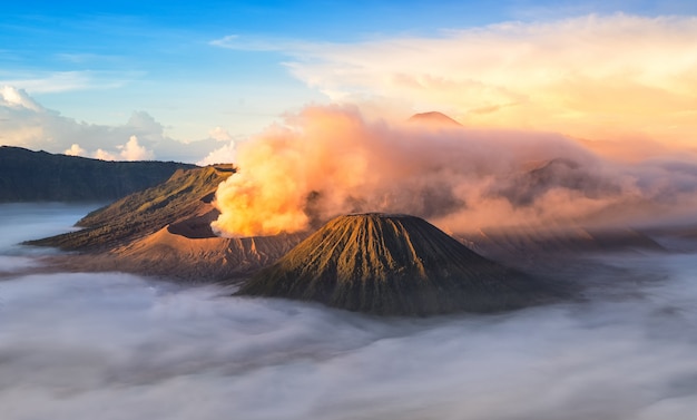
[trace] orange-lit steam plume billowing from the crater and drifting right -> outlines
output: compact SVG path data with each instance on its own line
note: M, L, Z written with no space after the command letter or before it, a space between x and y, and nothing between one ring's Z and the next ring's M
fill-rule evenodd
M352 212L415 214L449 231L628 223L693 209L697 188L685 157L620 164L561 135L389 124L350 106L289 117L240 145L237 163L216 194L213 227L226 236L297 232Z

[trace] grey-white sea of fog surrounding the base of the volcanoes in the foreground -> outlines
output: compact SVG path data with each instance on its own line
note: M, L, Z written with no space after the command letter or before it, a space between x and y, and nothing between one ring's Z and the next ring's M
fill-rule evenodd
M627 293L497 315L376 319L122 273L36 273L91 207L0 205L0 417L687 419L697 258L624 254ZM592 275L593 266L588 264ZM620 275L620 274L618 274ZM632 281L632 276L641 281Z

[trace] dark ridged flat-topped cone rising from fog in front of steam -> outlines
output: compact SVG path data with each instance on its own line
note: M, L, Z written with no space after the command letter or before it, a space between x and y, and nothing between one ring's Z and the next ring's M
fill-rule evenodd
M551 287L489 261L422 218L340 216L236 293L317 301L380 315L493 312L541 303Z

